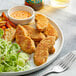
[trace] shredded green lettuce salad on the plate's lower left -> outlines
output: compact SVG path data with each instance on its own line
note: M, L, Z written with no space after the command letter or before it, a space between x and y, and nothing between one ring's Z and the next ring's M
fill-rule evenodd
M26 71L30 68L29 55L22 52L17 43L2 39L0 29L0 72Z

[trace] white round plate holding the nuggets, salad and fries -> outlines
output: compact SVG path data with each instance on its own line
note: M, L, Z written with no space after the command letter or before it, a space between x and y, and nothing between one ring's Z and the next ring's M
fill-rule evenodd
M3 11L7 13L7 10L1 10L0 14ZM47 17L47 18L50 20L50 23L56 28L56 30L58 31L58 35L59 35L58 40L55 42L55 50L56 50L55 53L53 55L50 55L48 57L47 62L45 64L41 65L41 66L36 66L33 63L33 57L32 57L32 59L30 61L30 63L31 63L30 70L28 70L28 71L22 71L22 72L3 72L3 73L0 73L0 76L5 76L5 75L11 76L11 75L29 74L29 73L32 73L32 72L35 72L35 71L38 71L38 70L44 68L45 66L49 65L55 58L57 58L57 56L61 52L61 49L62 49L62 46L63 46L63 42L64 42L63 33L62 33L62 31L61 31L61 29L60 29L60 27L58 25L56 25L53 21L51 21L51 19L49 17Z

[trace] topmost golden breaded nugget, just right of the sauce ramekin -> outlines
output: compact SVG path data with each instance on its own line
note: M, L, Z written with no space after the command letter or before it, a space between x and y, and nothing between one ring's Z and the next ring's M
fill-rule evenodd
M44 29L48 26L49 20L41 14L36 14L35 20L36 27L39 31L44 31Z

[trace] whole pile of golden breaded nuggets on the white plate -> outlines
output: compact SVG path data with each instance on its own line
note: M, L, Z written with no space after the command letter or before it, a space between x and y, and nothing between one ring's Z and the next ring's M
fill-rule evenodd
M47 61L49 54L55 52L54 44L58 33L49 20L41 14L36 14L35 26L36 28L31 25L18 25L16 29L7 29L4 38L8 41L15 38L21 50L28 54L34 53L34 63L40 66Z

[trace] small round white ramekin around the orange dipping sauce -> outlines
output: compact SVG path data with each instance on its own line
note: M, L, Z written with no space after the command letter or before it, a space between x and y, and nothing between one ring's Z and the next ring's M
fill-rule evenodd
M30 16L29 18L25 18L25 19L15 19L10 16L11 13L15 11L19 11L19 10L28 11L29 13L31 13L32 16ZM29 6L15 6L8 10L8 18L10 21L12 21L15 24L28 24L34 19L34 17L35 17L35 11Z

